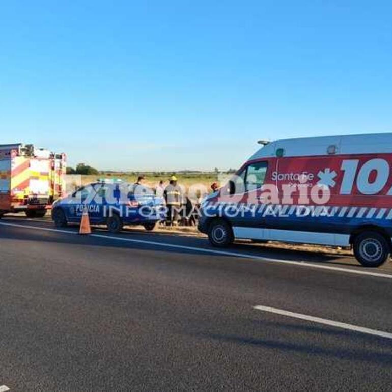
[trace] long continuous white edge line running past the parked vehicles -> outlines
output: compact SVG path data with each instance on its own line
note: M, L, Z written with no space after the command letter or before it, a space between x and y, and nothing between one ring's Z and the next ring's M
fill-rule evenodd
M30 226L30 225L19 225L18 223L0 222L0 226L11 226L11 227L24 228L24 229L35 229L35 230L48 231L48 232L54 232L54 233L78 235L77 231L50 229L50 228L43 228L43 227ZM110 239L110 240L114 240L114 241L124 241L124 242L139 243L139 244L146 244L146 245L156 245L156 246L161 246L161 247L165 247L165 248L172 248L172 249L194 250L194 251L198 251L200 253L209 253L209 254L213 254L213 255L240 257L243 259L254 259L254 260L267 261L267 262L272 262L272 263L289 264L289 265L295 265L295 266L300 266L300 267L319 268L319 269L325 269L325 270L329 270L329 271L347 272L347 273L352 273L352 274L356 274L356 275L375 276L375 277L383 277L383 278L387 278L387 279L392 279L392 274L361 271L361 270L357 270L357 269L348 269L348 268L341 268L341 267L332 267L329 265L313 264L313 263L307 263L304 261L273 259L273 258L267 258L267 257L251 255L251 254L237 253L237 252L232 252L232 251L227 251L227 250L199 248L196 246L177 245L177 244L170 244L167 242L158 242L158 241L136 240L136 239L132 239L132 238L113 237L113 236L103 235L103 234L89 234L89 236L96 237L96 238Z

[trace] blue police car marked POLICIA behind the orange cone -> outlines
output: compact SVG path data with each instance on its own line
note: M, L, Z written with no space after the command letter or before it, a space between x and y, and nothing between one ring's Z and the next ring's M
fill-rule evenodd
M124 225L143 225L150 231L165 219L164 201L152 189L120 181L97 182L82 186L53 203L52 219L56 227L80 223L87 211L92 225L106 225L112 233Z

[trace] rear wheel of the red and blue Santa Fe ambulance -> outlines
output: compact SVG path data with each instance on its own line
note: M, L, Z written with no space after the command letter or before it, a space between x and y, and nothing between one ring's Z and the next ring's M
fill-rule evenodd
M389 258L390 244L380 233L360 233L353 245L355 258L365 267L379 267Z

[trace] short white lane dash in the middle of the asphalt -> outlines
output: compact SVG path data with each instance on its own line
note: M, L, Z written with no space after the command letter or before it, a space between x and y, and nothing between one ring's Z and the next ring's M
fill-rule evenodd
M257 309L257 310L263 311L263 312L275 313L277 315L294 317L296 319L311 321L314 323L330 325L332 327L349 329L349 330L355 331L355 332L367 333L370 335L380 336L382 338L392 339L392 333L379 331L377 329L359 327L357 325L341 323L339 321L333 321L333 320L328 320L328 319L322 319L320 317L303 315L301 313L288 312L283 309L276 309L275 307L269 307L269 306L254 306L254 309Z

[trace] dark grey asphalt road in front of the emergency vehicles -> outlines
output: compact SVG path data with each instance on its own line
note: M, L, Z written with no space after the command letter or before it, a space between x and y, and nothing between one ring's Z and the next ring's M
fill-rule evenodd
M0 390L392 390L390 263L2 219L0 277Z

